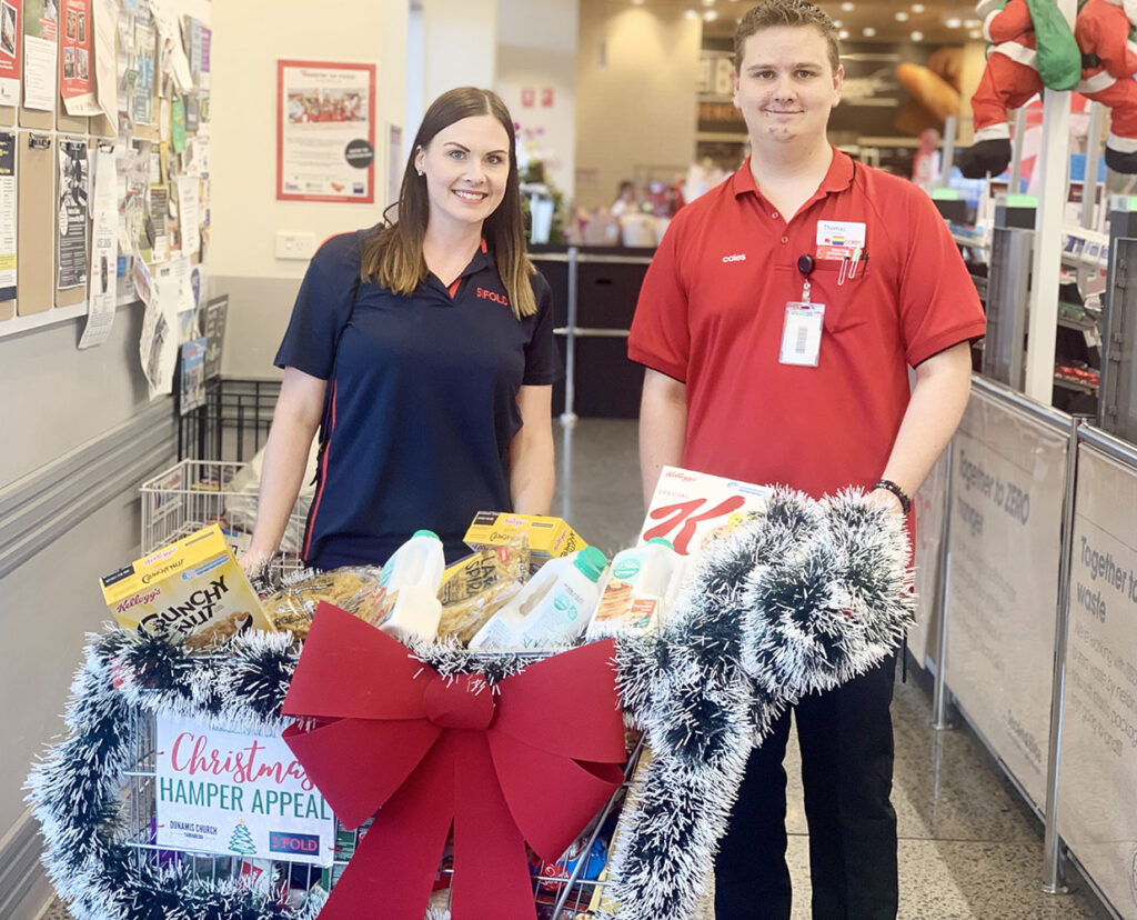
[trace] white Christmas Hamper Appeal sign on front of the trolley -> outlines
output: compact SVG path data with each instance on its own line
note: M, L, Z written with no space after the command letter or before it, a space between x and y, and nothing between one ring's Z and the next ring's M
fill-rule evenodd
M332 864L335 819L280 737L157 719L157 843Z

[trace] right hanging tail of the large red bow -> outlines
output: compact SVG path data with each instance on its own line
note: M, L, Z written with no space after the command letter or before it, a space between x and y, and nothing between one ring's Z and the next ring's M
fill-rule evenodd
M453 920L536 920L525 839L501 793L485 735L450 733L462 744L462 768L455 776Z

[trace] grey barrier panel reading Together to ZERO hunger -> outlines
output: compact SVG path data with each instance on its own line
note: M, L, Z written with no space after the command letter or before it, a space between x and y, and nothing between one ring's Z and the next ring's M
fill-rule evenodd
M1068 436L973 392L953 444L947 683L1041 805Z

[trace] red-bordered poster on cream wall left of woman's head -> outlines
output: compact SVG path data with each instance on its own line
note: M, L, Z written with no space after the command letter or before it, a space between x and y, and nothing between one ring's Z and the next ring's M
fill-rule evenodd
M276 63L276 200L375 200L375 65Z

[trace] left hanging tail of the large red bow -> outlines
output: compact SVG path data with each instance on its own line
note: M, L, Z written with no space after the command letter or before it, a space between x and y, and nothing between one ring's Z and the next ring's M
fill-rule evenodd
M375 814L319 920L423 920L454 821L451 733Z

